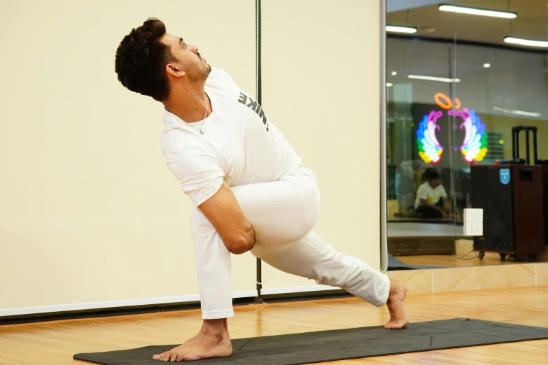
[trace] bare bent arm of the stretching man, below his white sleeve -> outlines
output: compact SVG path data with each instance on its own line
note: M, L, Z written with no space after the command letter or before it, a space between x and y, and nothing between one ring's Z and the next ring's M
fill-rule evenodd
M218 192L198 206L234 255L248 252L255 245L255 231L246 220L232 189L223 182Z

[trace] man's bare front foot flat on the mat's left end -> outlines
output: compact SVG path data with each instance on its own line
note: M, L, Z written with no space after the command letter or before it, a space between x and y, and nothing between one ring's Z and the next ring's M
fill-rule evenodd
M190 362L193 360L210 359L211 357L229 357L232 355L232 343L228 331L215 334L211 331L199 331L197 336L172 350L160 355L154 355L153 359L162 362Z

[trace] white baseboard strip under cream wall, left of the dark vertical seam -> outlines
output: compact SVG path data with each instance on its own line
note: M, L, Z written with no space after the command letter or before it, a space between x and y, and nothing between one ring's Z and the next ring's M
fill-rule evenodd
M233 292L232 298L247 298L258 296L257 290L248 292ZM199 301L199 295L163 296L160 298L129 299L125 301L95 301L90 303L59 304L55 306L40 306L26 308L0 309L0 317L10 315L31 315L40 313L68 312L72 310L94 310L106 308L123 308L131 306L153 306L155 304L188 303Z

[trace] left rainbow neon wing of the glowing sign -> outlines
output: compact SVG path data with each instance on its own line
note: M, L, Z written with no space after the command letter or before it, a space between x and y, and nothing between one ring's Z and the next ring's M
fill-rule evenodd
M437 164L442 160L443 147L436 138L436 129L440 129L436 122L442 115L440 111L431 111L424 116L416 130L416 147L419 149L419 156L427 164Z

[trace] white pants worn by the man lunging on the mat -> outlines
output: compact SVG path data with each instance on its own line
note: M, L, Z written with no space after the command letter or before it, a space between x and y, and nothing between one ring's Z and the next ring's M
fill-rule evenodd
M312 228L320 212L316 176L301 167L273 183L233 187L246 219L255 229L251 253L276 269L346 289L383 306L390 281L360 259L337 252ZM213 225L197 208L192 212L192 240L202 302L202 318L234 316L230 292L230 252Z

